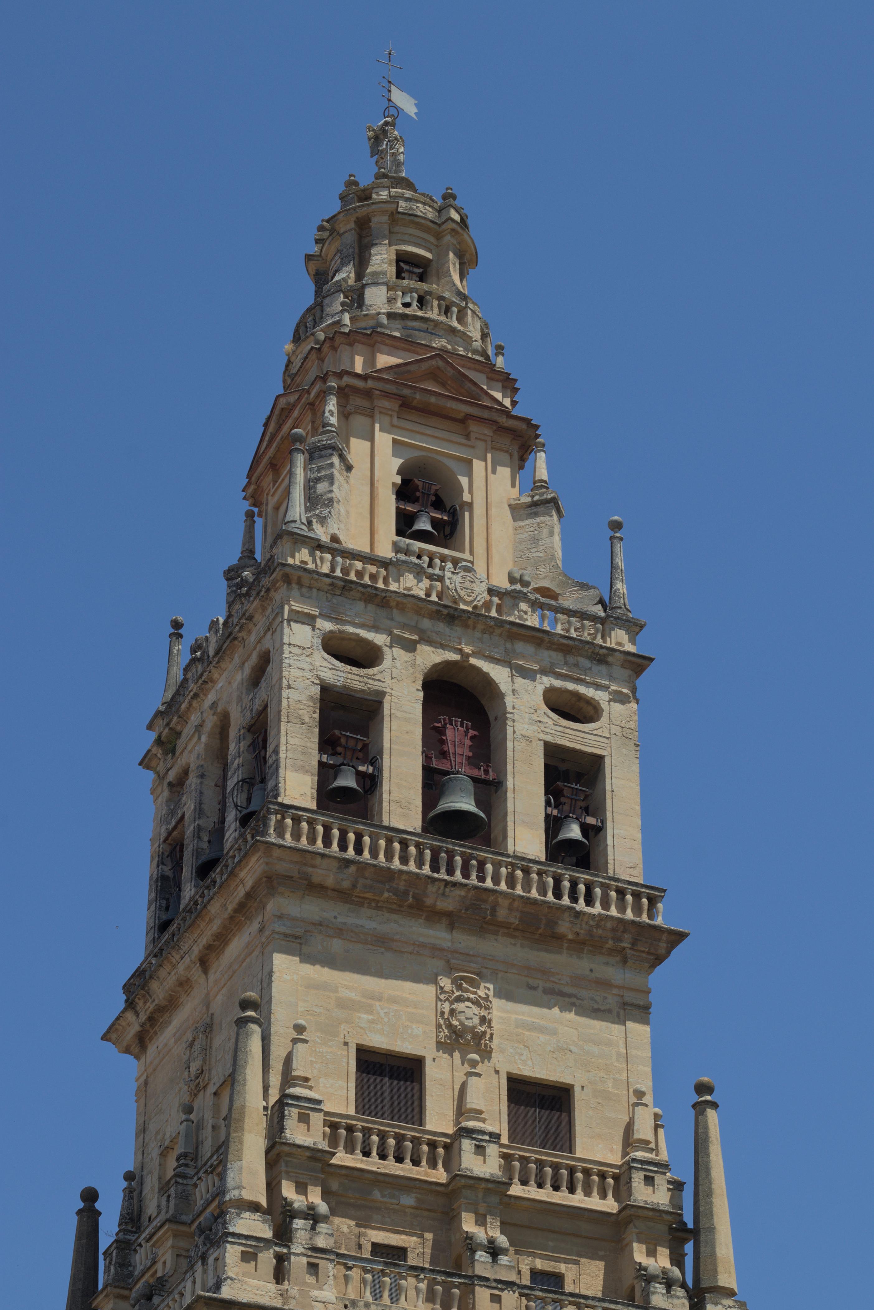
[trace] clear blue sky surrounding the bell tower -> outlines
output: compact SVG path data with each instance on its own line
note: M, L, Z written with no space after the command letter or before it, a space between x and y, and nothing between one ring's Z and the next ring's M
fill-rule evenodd
M140 959L136 768L170 614L223 608L240 487L368 176L390 38L408 173L452 183L472 293L601 587L612 514L656 663L645 861L692 930L654 980L655 1100L692 1178L709 1074L739 1293L858 1296L870 1241L870 4L4 7L9 1303L111 1231ZM691 1220L691 1205L688 1216Z

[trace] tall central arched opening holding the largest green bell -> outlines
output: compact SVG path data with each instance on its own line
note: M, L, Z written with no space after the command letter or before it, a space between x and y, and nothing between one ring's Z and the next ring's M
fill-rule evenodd
M469 685L440 676L449 672L456 667L435 668L422 686L422 831L446 845L494 848L506 820L495 803L493 718Z

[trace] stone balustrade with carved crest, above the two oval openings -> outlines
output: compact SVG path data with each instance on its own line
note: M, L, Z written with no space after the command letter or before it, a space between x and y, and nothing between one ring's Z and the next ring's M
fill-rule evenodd
M575 637L601 646L634 650L643 627L637 618L613 618L600 609L577 609L560 601L545 601L527 586L525 574L516 583L499 587L476 574L466 555L398 537L392 555L376 555L330 541L313 542L283 532L274 542L278 559L296 567L313 569L337 579L366 583L385 591L400 591L422 600L443 601L474 613L508 618L528 627L540 627L558 637ZM451 575L463 565L465 586ZM511 571L515 576L518 570Z

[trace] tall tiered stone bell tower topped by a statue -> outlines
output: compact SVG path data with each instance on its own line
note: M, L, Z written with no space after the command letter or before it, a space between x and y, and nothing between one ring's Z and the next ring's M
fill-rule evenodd
M134 1169L98 1290L80 1212L68 1310L742 1305L713 1085L688 1276L653 1108L647 979L685 934L643 880L622 523L604 599L563 571L468 216L389 145L316 231L183 665L172 621L106 1032Z

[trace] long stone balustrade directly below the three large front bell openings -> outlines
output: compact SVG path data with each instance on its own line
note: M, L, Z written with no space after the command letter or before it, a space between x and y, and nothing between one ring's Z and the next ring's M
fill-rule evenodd
M478 883L504 895L546 900L580 913L637 920L654 927L664 922L664 891L646 883L624 883L545 861L516 861L497 850L449 845L398 828L341 819L279 800L267 802L259 825L261 834L271 841L308 846L341 859L413 869L431 878Z

